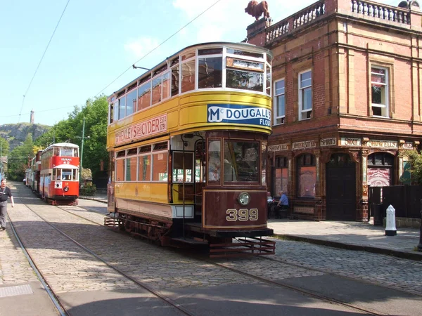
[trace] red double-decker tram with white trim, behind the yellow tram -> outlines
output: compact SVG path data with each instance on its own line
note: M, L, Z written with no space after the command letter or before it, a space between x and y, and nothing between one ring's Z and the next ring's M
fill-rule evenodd
M79 197L79 146L56 143L41 152L41 198L50 204L77 204Z

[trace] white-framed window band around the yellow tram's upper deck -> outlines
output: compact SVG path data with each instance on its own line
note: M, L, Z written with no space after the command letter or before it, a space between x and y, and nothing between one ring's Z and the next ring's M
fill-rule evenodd
M201 50L208 50L209 52L200 53ZM221 61L221 82L217 82L217 86L214 85L198 88L200 79L199 62L200 60L206 58L218 58ZM242 65L229 65L227 58L241 63L259 64L262 65L262 69L261 67L258 67L259 69L254 69L253 67L242 67ZM185 48L185 50L179 53L179 55L175 55L172 60L162 62L160 68L148 72L145 77L137 79L136 82L132 81L132 86L127 85L124 89L122 89L122 91L117 93L116 96L110 98L108 124L120 121L132 114L136 114L137 112L146 110L149 107L158 105L174 96L195 91L204 91L207 89L227 91L243 90L250 91L251 93L261 93L263 95L271 96L273 88L271 84L271 69L271 53L253 52L252 48L250 50L247 47L234 48L234 46L229 44L215 44L215 46L210 45L206 48L203 46L199 48ZM250 74L249 80L252 82L252 86L227 87L228 72ZM185 79L185 83L183 79ZM189 83L187 84L188 79ZM191 84L192 80L193 85ZM158 84L158 81L160 81L160 84ZM154 82L156 85L153 84ZM130 91L127 91L127 89L130 89ZM160 91L158 91L158 89ZM136 104L134 102L133 104L131 103L131 107L129 107L128 111L127 97L130 93L134 93L135 90ZM145 91L147 92L143 93ZM156 99L153 99L154 96ZM149 100L146 100L149 101L147 102L148 104L140 103L143 98L145 98L145 100L149 98Z

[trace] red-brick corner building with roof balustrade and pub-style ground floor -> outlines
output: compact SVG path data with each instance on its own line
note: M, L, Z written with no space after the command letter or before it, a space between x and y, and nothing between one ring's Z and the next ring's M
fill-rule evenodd
M369 187L403 184L422 138L422 14L398 5L322 0L248 27L274 53L267 184L296 218L364 221Z

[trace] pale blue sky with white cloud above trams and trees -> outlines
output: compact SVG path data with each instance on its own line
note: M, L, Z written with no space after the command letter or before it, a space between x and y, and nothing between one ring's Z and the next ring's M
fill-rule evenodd
M267 0L273 24L314 2ZM143 74L134 63L149 69L186 46L243 41L255 21L245 13L248 0L0 4L0 125L29 123L33 110L35 123L53 126L75 106L109 96Z

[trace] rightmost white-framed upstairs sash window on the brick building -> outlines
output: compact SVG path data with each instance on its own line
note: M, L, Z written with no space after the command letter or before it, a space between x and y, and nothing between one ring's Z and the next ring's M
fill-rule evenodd
M374 117L389 117L388 70L371 67L371 109Z

